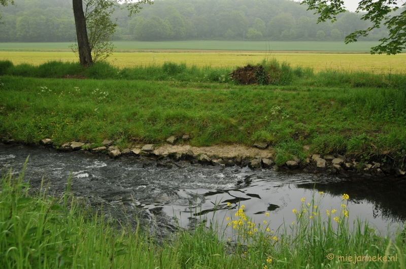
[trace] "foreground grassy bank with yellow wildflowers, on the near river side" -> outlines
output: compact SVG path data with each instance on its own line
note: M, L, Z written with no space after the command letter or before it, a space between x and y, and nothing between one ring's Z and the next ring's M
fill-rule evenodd
M70 180L54 198L45 186L30 190L24 169L12 174L4 171L0 185L2 268L406 268L404 233L381 236L359 220L350 228L346 195L328 209L323 193L303 198L296 221L277 231L270 218L252 223L243 205L220 203L229 210L224 223L159 238L86 209Z

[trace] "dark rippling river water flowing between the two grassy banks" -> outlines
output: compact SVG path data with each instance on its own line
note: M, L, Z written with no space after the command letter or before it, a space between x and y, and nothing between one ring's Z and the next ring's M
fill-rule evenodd
M174 216L184 227L204 217L225 225L225 218L244 205L246 215L256 223L266 219L269 228L276 230L296 220L292 210L301 208L302 198L306 202L313 195L319 199L319 191L324 192L319 205L322 212L340 211L342 195L349 195L350 223L358 217L386 233L388 227L395 230L406 219L406 180L399 178L343 179L238 166L191 165L186 161L164 168L156 167L156 162L148 158L114 160L25 145L0 145L2 173L10 167L18 173L28 156L25 178L33 188L44 180L51 193L60 195L72 172L71 190L76 197L95 206L104 205L104 212L125 209L128 215L137 213L149 225L161 229L173 228Z

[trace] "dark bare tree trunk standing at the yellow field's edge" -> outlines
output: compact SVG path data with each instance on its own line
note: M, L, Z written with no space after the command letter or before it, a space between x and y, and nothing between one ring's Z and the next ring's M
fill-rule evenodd
M79 61L82 66L93 64L92 54L87 37L86 19L83 13L82 0L72 0L73 14L75 16L76 36L78 39Z

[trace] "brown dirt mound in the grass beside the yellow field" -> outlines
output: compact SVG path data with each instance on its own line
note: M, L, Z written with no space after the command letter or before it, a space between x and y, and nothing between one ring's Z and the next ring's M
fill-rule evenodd
M269 74L265 71L262 65L252 66L247 65L239 67L229 73L231 80L239 81L241 84L261 84L265 85L269 83Z

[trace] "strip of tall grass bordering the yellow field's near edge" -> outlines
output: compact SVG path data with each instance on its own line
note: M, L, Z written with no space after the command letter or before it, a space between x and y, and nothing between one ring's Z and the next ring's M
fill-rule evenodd
M406 87L406 76L399 73L368 73L326 69L317 74L311 68L291 67L287 62L265 58L261 63L270 75L269 82L259 84L297 85L313 87L345 88L396 88ZM258 64L258 65L259 65ZM187 66L185 63L165 62L162 65L118 68L107 62L98 62L89 68L79 63L51 61L39 66L29 64L14 65L10 61L0 61L0 75L25 76L31 78L80 78L178 81L207 83L236 83L228 75L229 67Z

